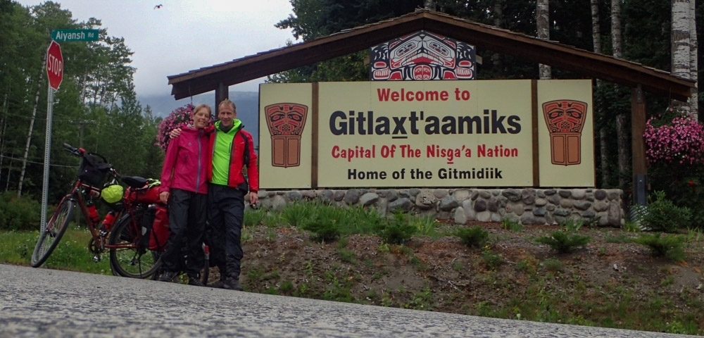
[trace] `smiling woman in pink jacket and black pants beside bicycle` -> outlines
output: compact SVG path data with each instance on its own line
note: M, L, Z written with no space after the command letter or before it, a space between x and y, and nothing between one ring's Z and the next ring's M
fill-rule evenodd
M203 286L199 274L204 265L202 245L208 199L210 113L210 106L196 106L193 125L184 127L181 137L171 140L164 158L159 197L169 206L171 233L161 255L163 274L159 280L163 282L174 280L183 270L189 277L188 284ZM184 245L187 246L185 262Z

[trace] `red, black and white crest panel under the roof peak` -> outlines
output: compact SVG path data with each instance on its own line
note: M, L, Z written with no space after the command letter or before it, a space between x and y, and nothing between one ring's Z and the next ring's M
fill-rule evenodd
M474 46L420 30L370 49L370 78L386 80L474 80Z

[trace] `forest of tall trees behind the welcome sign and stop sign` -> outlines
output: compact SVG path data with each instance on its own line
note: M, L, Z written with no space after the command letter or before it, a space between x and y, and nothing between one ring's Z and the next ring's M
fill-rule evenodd
M277 27L291 29L291 44L310 41L359 25L375 23L429 8L477 23L495 25L560 42L587 51L617 56L676 75L672 37L681 25L673 23L676 3L693 9L696 30L691 32L696 80L700 56L704 6L690 1L662 0L291 0L293 13ZM217 15L217 14L215 14ZM542 28L539 28L542 27ZM65 76L56 93L51 137L49 204L58 200L73 181L77 158L61 149L64 142L106 156L122 175L156 177L163 151L155 145L158 123L149 106L137 101L130 66L132 51L122 37L101 28L99 18L78 22L69 8L46 1L24 7L0 0L0 188L4 194L39 200L42 194L46 133L46 72L44 55L53 29L99 29L96 42L62 44ZM696 33L696 34L695 34ZM688 49L689 50L689 49ZM367 81L369 51L270 75L269 82ZM541 65L520 58L478 50L483 79L538 79L546 76ZM156 57L156 56L155 56ZM205 65L204 65L205 66ZM552 68L555 79L580 75ZM594 121L596 182L598 187L631 191L630 88L595 81ZM667 97L646 96L648 115L658 116L673 105ZM689 103L700 110L697 94ZM701 115L701 114L698 114ZM697 116L697 115L694 115ZM700 156L700 155L697 155ZM700 159L701 157L699 157ZM704 183L702 161L681 165L652 163L650 189L665 190L676 204L691 206ZM679 182L687 182L686 191ZM693 199L694 198L694 199ZM698 202L700 204L700 202ZM704 219L704 218L700 218Z

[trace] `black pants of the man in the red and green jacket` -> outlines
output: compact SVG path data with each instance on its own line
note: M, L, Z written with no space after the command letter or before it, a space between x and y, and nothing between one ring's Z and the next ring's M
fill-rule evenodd
M239 279L244 219L244 190L220 184L208 185L208 246L210 265L225 269L227 277Z

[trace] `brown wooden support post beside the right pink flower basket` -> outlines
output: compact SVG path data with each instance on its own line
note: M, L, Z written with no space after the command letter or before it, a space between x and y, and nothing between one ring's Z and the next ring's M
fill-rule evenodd
M646 99L643 88L631 89L631 152L633 163L633 200L635 204L645 205L648 201L647 177L648 165L646 159L646 142L643 132L646 131Z

